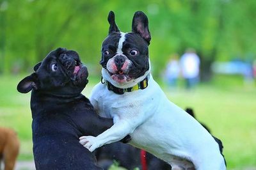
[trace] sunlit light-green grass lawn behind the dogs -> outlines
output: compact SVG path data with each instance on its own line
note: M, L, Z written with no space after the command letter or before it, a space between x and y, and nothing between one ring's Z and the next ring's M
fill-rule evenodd
M30 93L16 90L22 78L0 76L0 125L17 131L21 143L19 160L32 160ZM90 79L83 93L90 95L96 82L97 79ZM256 167L255 86L244 86L243 79L234 76L214 77L211 84L200 84L193 91L160 84L172 102L184 109L192 107L196 118L221 139L228 169Z

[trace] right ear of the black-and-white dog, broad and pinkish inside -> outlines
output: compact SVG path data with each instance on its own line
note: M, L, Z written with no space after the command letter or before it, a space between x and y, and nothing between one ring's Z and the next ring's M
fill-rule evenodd
M140 35L149 44L151 35L148 29L148 17L143 12L134 13L132 19L132 32Z

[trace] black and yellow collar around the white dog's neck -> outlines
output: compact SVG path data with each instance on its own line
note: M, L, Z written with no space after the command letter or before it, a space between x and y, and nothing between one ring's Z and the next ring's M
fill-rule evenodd
M135 86L131 87L131 88L116 88L116 86L114 86L113 84L111 84L109 81L106 81L103 79L103 77L101 77L101 83L102 84L106 84L106 86L108 87L108 90L113 91L114 93L118 94L118 95L123 95L125 92L131 92L131 91L135 91L138 89L145 89L148 86L148 79L149 79L149 74L147 75L147 77L139 82L138 84L136 84Z

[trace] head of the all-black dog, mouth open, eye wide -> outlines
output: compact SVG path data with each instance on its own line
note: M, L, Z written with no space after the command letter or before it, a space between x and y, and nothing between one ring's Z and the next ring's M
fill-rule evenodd
M81 93L88 83L87 68L74 50L53 50L34 70L35 73L18 84L21 93L36 89L52 95L72 96Z

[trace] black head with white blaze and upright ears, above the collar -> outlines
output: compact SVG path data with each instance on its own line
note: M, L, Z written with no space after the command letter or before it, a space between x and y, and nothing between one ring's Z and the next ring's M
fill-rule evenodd
M143 12L134 14L131 33L119 31L113 12L109 12L108 21L109 35L102 43L100 65L113 81L129 83L149 70L150 32L147 16Z

